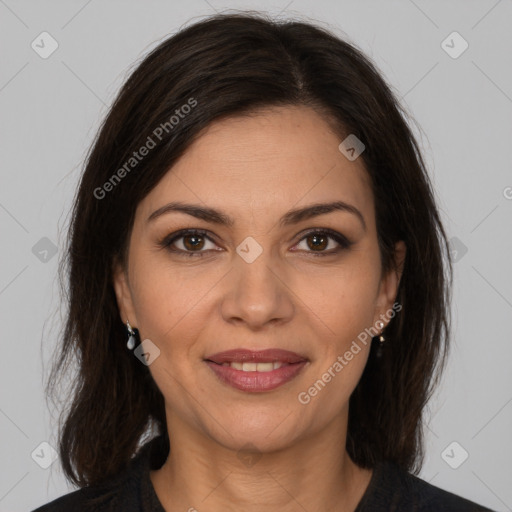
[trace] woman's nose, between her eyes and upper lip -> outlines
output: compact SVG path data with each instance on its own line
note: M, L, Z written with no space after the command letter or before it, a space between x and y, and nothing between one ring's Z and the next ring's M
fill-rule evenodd
M271 261L266 254L263 251L251 263L235 258L221 308L226 322L261 330L267 324L286 323L293 318L296 297L291 276L285 264Z

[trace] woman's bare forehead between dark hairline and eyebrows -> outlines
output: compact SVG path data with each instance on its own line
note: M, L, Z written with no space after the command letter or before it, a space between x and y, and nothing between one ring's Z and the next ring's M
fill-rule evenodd
M343 200L373 217L361 158L316 111L279 107L209 125L139 205L145 217L172 200L240 214L281 215L292 207Z

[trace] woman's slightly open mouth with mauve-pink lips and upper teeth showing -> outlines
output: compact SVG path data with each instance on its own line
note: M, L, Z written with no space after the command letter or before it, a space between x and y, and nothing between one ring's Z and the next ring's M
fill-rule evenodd
M241 391L262 392L293 379L309 359L281 349L235 349L208 356L204 362L221 382Z

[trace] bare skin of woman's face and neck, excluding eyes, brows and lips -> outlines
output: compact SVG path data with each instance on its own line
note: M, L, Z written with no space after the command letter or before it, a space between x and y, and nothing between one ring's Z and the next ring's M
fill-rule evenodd
M399 242L397 270L382 273L369 177L361 158L339 151L341 140L306 107L225 119L138 205L128 264L115 266L114 286L122 321L160 349L149 369L165 397L171 451L150 476L167 511L353 511L370 482L372 471L344 448L348 402L370 344L307 405L297 399L390 311L405 257ZM290 209L335 200L355 206L366 230L344 211L277 223ZM235 224L177 212L147 222L171 201L222 210ZM202 258L159 245L185 228L212 240L200 238L194 249L185 237L173 247ZM311 228L330 228L353 245L327 238L315 249L314 235L304 234ZM248 236L263 250L252 263L236 252ZM233 348L282 348L309 362L286 384L247 393L203 361ZM257 449L254 463L242 460L247 443Z

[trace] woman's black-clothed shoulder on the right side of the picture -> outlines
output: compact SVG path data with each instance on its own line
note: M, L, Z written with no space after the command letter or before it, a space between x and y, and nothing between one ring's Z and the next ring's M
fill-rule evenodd
M493 512L436 487L391 462L380 463L357 512Z

